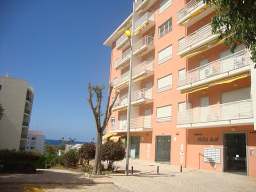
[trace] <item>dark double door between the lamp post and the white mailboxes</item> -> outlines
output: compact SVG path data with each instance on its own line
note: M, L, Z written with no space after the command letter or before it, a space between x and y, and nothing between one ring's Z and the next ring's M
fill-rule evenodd
M156 136L155 161L170 164L171 135Z

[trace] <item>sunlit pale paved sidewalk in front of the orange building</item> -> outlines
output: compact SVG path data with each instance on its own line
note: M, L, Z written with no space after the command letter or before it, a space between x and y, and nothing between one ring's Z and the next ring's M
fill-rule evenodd
M117 162L119 170L125 170L126 160ZM129 159L129 170L133 166L133 175L113 174L111 180L117 186L129 191L256 191L256 179L246 175L197 170L180 166ZM159 173L157 173L159 166ZM96 179L107 181L109 178Z

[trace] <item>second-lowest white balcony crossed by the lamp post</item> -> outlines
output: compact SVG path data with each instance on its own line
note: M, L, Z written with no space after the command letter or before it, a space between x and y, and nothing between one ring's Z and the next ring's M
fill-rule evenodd
M145 105L146 103L153 102L153 94L151 89L141 89L139 91L135 91L131 95L131 106L138 107L141 105ZM116 101L112 110L125 110L128 107L128 95L124 95L119 98L119 101Z

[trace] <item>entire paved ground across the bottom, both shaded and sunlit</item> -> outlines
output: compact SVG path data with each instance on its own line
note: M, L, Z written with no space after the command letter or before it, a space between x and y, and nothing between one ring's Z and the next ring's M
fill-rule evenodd
M37 174L0 174L0 192L22 191L24 183L37 185L47 192L82 191L256 191L256 179L246 175L185 168L154 162L130 160L134 174L113 174L110 177L88 178L66 170L39 170ZM157 166L159 173L156 173ZM117 163L124 171L125 159Z

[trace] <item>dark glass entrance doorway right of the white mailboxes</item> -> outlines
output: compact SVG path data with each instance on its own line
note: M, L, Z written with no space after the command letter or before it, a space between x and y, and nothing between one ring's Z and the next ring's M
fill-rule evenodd
M247 174L246 134L223 135L224 171Z

